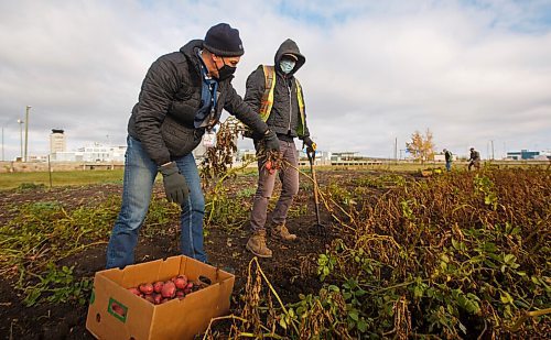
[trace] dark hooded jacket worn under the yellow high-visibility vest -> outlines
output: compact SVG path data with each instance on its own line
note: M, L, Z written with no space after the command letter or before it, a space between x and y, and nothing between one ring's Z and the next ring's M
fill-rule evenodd
M283 54L293 54L298 61L294 68L285 75L279 67ZM299 51L295 42L288 39L278 48L274 57L276 69L276 88L273 89L273 106L270 111L270 117L266 123L273 130L280 139L295 138L299 127L300 111L299 101L296 100L296 83L294 74L304 65L306 58ZM245 102L247 102L255 112L260 111L260 101L266 89L266 78L262 65L253 70L247 78L247 92L245 94ZM302 96L304 100L304 96ZM304 134L300 138L310 136L306 120L304 119Z

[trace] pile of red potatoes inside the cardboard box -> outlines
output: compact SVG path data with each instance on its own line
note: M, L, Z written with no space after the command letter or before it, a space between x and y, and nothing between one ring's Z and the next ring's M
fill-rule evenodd
M153 305L161 305L173 298L182 299L187 294L206 286L208 284L202 281L191 282L185 275L179 275L165 282L143 283L138 287L130 287L128 290Z

